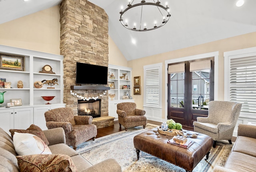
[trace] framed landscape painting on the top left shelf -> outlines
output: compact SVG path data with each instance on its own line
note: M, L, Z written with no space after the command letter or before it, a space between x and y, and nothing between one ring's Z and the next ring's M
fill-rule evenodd
M24 71L24 56L1 54L0 69Z

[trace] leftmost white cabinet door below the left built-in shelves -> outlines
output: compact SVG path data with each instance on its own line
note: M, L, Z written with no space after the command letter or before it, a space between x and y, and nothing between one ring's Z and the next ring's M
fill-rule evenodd
M14 111L13 109L1 109L0 111L0 127L8 134L9 129L14 128Z

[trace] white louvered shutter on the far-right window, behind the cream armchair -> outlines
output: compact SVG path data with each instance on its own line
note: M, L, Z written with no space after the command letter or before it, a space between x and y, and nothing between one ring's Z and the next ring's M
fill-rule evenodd
M256 56L230 59L230 101L256 114Z

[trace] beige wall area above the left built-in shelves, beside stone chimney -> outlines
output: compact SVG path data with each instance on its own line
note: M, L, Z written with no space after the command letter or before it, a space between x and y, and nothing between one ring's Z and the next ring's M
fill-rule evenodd
M60 6L0 24L0 44L60 54Z

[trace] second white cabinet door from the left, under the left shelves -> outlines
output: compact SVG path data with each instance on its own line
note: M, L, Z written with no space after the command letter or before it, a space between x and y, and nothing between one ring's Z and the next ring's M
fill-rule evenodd
M27 129L33 123L33 108L14 109L14 129Z

